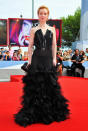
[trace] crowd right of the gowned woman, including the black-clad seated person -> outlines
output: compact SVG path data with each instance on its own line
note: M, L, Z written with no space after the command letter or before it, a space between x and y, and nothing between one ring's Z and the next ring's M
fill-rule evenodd
M85 67L82 65L84 61L88 61L88 48L86 48L86 51L83 50L67 50L62 51L59 50L57 53L57 63L58 63L58 72L60 72L60 75L62 75L63 70L63 63L62 61L71 61L72 65L69 67L71 69L71 75L77 76L77 72L79 73L81 71L81 76L84 77L85 73ZM76 69L79 71L76 72Z

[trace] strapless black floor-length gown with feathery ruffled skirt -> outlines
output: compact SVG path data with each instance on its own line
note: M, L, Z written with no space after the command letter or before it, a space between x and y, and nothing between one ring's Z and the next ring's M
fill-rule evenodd
M21 109L14 114L14 120L26 127L33 123L50 124L69 119L69 100L61 93L57 82L57 68L53 66L53 33L49 29L45 35L41 29L35 32L35 50L31 65L22 78L24 83Z

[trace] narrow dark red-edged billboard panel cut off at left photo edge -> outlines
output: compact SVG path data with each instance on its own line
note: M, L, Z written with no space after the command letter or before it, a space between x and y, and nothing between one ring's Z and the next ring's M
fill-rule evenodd
M0 46L7 46L7 20L0 19Z

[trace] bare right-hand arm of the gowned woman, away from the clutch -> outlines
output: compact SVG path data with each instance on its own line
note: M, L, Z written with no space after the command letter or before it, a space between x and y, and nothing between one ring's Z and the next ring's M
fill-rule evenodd
M56 43L56 31L54 27L52 27L52 31L53 31L53 41L52 41L53 65L56 66L57 43Z

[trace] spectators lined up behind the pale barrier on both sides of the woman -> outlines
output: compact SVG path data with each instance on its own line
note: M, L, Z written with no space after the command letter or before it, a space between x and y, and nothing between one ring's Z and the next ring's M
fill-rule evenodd
M71 60L74 52L72 52L71 49L63 51L62 49L59 49L57 51L57 58L61 58L59 60L62 61L68 61ZM83 50L79 51L79 54L84 57L84 60L88 61L88 48L86 48L86 51L84 52ZM23 51L22 48L19 48L18 50L13 50L11 47L8 49L6 48L0 48L0 61L26 61L28 60L28 52Z

